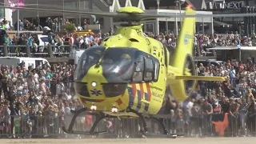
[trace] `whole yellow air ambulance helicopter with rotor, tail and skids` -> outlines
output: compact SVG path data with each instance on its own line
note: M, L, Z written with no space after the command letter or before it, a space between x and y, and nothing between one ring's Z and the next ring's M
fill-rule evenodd
M45 11L34 8L18 9ZM46 11L78 14L75 11ZM110 14L79 13L123 18L128 23L119 26L113 36L105 38L100 46L90 47L80 57L74 74L74 88L86 108L74 111L70 126L67 129L62 128L68 134L105 133L106 131L94 131L103 118L140 118L143 126L141 132L147 135L147 117L160 122L164 134L169 136L164 118L156 117L162 114L162 103L167 90L171 91L174 98L183 101L194 91L198 80L226 80L222 77L197 76L192 54L195 11L190 7L186 8L186 14L182 16L184 19L178 45L171 51L158 40L146 37L142 24L134 24L142 19L171 16L145 14L143 10L133 6L123 7L117 13ZM216 15L222 16L224 15ZM76 118L85 113L96 116L90 131L73 130Z

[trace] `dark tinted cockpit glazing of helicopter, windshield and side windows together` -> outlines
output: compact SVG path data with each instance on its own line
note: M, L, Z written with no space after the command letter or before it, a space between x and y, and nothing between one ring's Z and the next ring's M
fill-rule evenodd
M130 47L96 46L86 50L78 62L75 81L82 81L91 66L102 66L108 83L157 82L159 61L153 55Z

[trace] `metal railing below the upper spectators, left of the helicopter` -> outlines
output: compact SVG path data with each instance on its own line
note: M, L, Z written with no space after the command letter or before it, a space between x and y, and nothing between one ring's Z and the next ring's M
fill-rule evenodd
M26 46L0 46L0 55L7 56L27 56L30 58L41 57L41 58L54 58L54 57L68 57L71 50L79 49L76 45L62 45L54 46L48 44L47 46L38 46L34 49L28 44Z

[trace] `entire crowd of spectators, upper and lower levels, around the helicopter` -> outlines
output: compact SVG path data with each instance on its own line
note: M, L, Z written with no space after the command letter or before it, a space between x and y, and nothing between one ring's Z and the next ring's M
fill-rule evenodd
M58 19L50 18L46 21L50 29L57 29L58 26L54 25L57 22ZM33 22L24 20L19 24L21 29L30 30L29 27L37 27ZM3 20L0 26L3 30L11 30L13 27L6 20ZM76 29L82 30L82 27L76 26ZM47 42L56 46L76 45L87 49L90 46L99 45L101 40L109 35L111 34L74 36L68 33L49 33ZM174 34L146 33L146 35L158 39L166 46L175 47L177 44L178 37ZM13 38L6 34L3 39L7 46L29 44L34 52L44 50L38 49L38 42L33 34L21 34ZM206 51L206 46L255 46L255 44L254 34L251 38L247 38L240 36L238 32L226 35L195 34L194 37L194 45L198 49L196 51L199 51L196 53L198 56ZM17 50L10 50L10 52L14 51ZM70 122L72 116L70 110L83 107L75 96L72 86L74 65L62 63L52 66L26 67L21 63L17 67L2 65L0 67L0 135L6 134L16 138L15 134L18 134L23 138L29 138L33 134L40 136L62 134L61 127ZM194 94L182 103L170 100L167 96L163 106L170 112L170 117L166 119L170 133L211 136L215 134L211 123L214 114L229 113L231 123L227 130L229 136L255 136L256 65L254 62L248 58L247 62L228 61L219 65L199 63L198 75L223 76L227 80L226 82L198 82ZM91 118L78 119L76 122L78 129L86 130L91 126ZM118 122L113 119L107 121L109 123L107 127L116 126L114 132L119 134L118 126L113 124ZM151 132L158 133L158 130L158 126L151 126ZM130 132L126 131L126 135L130 135Z

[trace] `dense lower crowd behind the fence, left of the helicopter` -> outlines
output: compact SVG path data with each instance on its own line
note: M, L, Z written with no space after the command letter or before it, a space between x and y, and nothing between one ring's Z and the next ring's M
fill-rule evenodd
M71 83L75 66L63 63L27 68L20 63L0 67L0 135L49 134L50 126L63 124L70 110L83 106Z

